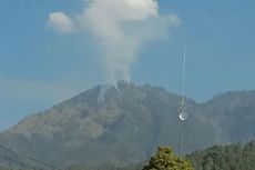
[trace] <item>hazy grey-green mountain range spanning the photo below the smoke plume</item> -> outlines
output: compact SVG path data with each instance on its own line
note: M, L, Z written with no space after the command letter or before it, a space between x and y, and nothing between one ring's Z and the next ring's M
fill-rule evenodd
M63 168L125 167L180 140L180 96L149 84L98 86L1 132L16 151ZM205 103L186 99L184 151L255 137L255 91L232 91Z

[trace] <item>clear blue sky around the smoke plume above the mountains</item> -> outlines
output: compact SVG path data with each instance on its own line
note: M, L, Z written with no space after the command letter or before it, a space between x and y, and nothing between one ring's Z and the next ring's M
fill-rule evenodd
M198 102L228 90L255 89L255 1L159 0L182 23L139 51L131 79L180 92L186 41L186 94ZM61 34L50 12L72 16L82 0L0 1L0 130L102 82L89 33Z

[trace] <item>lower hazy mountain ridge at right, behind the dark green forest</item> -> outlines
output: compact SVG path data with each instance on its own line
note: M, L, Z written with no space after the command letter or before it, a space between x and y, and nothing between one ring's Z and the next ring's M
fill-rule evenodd
M204 118L228 142L255 137L255 91L230 91L202 104Z

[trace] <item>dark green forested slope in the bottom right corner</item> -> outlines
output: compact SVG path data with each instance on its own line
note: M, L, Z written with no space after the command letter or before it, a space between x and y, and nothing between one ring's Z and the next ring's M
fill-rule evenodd
M188 156L196 170L254 170L255 141L245 146L214 146Z

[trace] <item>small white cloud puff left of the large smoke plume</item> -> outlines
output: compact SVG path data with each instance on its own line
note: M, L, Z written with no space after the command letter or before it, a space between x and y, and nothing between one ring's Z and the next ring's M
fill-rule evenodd
M61 33L69 33L73 31L72 20L63 12L50 13L48 24Z

